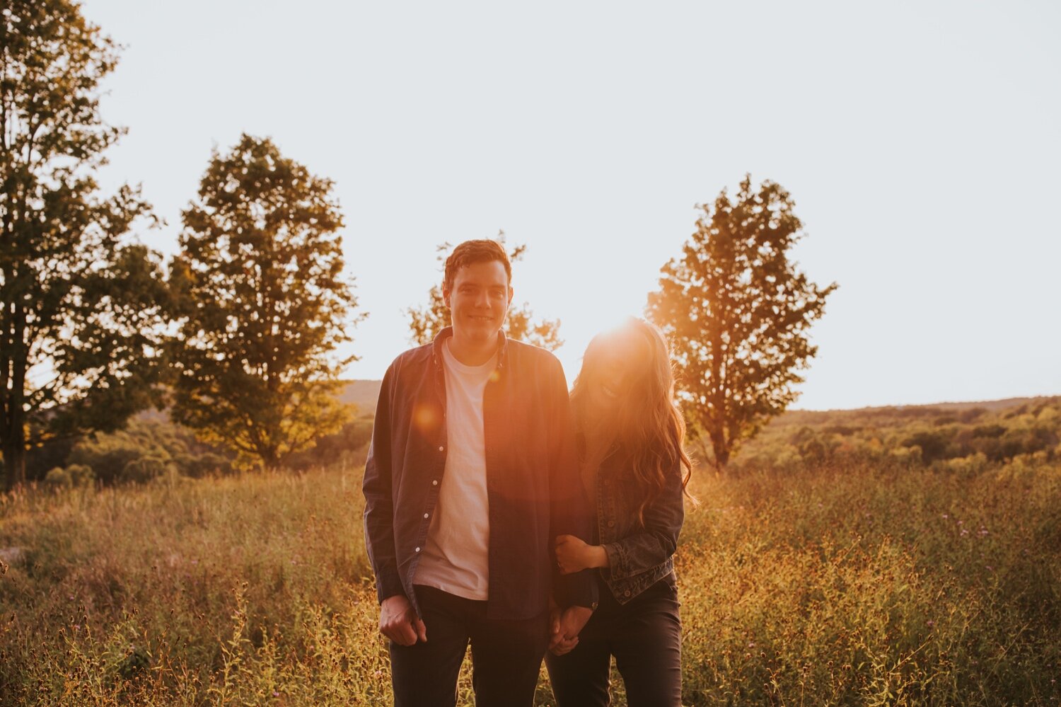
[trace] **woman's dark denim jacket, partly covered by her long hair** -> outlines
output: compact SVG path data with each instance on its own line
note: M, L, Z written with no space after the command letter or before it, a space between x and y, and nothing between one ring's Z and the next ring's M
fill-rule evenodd
M609 565L601 569L601 576L620 604L674 572L674 551L685 518L681 476L678 462L667 472L659 496L645 506L642 525L638 505L644 493L638 488L629 462L612 451L597 469L597 538Z

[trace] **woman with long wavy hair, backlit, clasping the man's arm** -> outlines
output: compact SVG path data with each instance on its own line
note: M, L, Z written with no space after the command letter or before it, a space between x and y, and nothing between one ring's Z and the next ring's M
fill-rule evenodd
M631 707L681 705L674 554L692 471L659 329L630 317L597 334L571 394L596 537L556 539L564 574L598 568L601 601L577 639L547 655L559 707L608 704L611 656Z

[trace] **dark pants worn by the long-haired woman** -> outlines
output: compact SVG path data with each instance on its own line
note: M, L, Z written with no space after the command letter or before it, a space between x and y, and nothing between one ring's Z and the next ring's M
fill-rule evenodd
M558 707L608 705L611 656L630 707L681 707L681 622L674 575L620 605L601 583L601 605L578 645L545 666Z

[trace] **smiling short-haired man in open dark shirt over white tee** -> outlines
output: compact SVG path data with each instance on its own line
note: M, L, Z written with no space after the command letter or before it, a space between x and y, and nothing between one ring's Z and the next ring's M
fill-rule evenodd
M563 370L501 331L511 264L494 241L446 261L453 324L390 364L365 464L365 544L395 704L454 705L471 643L475 703L532 705L546 648L570 650L596 606L560 577L554 539L592 537ZM550 634L549 601L562 613Z

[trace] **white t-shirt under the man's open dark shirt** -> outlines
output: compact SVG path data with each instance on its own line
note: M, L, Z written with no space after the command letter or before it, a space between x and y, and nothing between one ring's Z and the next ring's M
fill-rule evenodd
M483 392L497 368L497 359L466 366L450 352L449 340L442 346L446 471L414 580L476 601L485 601L489 588L490 506Z

